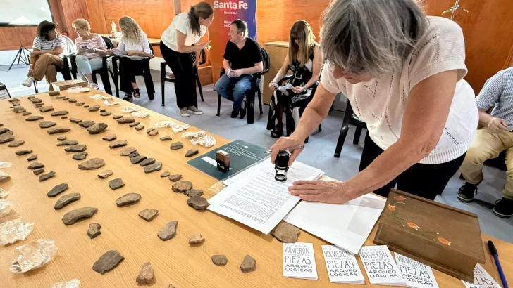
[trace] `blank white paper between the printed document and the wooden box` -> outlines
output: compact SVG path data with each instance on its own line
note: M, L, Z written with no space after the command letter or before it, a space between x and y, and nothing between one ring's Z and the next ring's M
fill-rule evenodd
M283 220L358 254L378 221L385 199L367 194L345 204L302 201Z

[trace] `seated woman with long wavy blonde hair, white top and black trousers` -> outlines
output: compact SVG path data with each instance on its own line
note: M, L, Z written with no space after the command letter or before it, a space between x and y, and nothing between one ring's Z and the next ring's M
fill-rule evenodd
M126 51L126 55L119 60L120 90L125 92L123 100L132 101L132 93L134 98L141 96L134 72L145 69L147 62L141 60L152 57L152 50L149 48L146 33L133 18L123 16L119 20L119 27L123 38L118 44L118 50Z

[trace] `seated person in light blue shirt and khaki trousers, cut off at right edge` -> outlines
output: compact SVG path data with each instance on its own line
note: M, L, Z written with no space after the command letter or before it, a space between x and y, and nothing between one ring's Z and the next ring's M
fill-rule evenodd
M483 162L506 151L506 185L502 199L495 202L493 213L509 218L513 214L513 67L502 70L488 79L476 97L479 122L486 125L478 129L476 138L462 164L466 180L459 188L458 199L463 202L474 200L477 185L483 181ZM495 106L495 107L494 107ZM488 114L491 108L493 111Z

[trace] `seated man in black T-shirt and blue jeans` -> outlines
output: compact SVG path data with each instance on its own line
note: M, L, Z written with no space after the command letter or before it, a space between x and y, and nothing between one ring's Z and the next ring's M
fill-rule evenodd
M261 48L257 41L247 37L246 22L237 19L230 25L230 41L226 44L223 67L225 74L216 82L214 88L223 98L233 101L232 118L246 114L244 97L251 89L254 73L262 72ZM242 107L242 109L241 109Z

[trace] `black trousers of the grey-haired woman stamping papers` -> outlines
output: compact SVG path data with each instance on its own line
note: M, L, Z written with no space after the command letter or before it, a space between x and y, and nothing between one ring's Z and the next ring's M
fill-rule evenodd
M383 153L383 149L379 148L379 146L374 143L369 136L369 132L367 132L365 136L364 152L361 154L359 171L366 169L381 153ZM414 166L409 167L409 169L402 172L402 174L397 176L393 181L375 190L374 193L388 197L388 192L390 192L390 189L394 188L397 183L397 190L434 200L436 195L442 194L445 185L447 185L450 178L458 171L465 155L466 153L450 162L441 164L414 164Z

